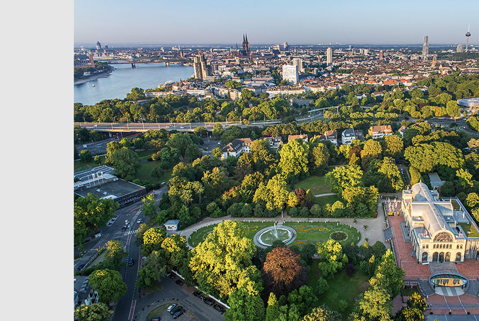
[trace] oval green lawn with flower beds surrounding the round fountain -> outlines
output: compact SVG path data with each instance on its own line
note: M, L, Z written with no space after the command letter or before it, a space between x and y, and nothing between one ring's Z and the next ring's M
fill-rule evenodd
M247 223L249 232L246 237L253 239L255 234L267 226L272 226L273 222L251 222ZM306 243L312 243L318 245L318 243L324 242L330 238L330 235L334 232L344 232L347 237L339 241L342 244L345 243L357 243L361 239L361 233L354 227L348 225L337 224L337 222L285 222L284 225L290 226L296 230L296 239L292 243L293 245L301 246ZM200 242L205 240L213 228L216 226L209 225L201 227L196 232L192 233L188 238L188 244L192 247L196 247Z

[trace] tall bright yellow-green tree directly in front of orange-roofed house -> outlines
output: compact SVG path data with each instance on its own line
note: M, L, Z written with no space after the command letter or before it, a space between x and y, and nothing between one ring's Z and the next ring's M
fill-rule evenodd
M308 144L299 139L293 139L281 147L278 166L287 182L295 181L301 175L309 175L308 153Z

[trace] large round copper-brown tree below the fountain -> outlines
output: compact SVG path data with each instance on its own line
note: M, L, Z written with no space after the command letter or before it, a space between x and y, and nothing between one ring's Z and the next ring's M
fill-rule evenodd
M305 284L306 268L299 259L299 254L288 248L276 248L268 253L262 271L266 292L286 295Z

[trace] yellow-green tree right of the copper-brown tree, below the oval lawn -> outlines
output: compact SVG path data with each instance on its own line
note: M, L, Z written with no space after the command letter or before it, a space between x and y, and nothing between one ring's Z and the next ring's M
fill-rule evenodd
M341 244L333 239L321 243L317 253L321 256L321 262L318 265L324 277L332 276L348 263L348 257L343 254Z

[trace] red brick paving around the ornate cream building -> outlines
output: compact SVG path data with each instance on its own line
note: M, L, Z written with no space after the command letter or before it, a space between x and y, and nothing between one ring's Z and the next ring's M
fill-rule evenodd
M388 216L389 224L394 235L394 250L396 253L396 260L398 264L404 269L405 280L428 279L431 274L428 265L418 264L415 257L411 256L413 246L411 243L404 242L404 237L401 232L401 222L404 222L403 216ZM467 276L469 279L479 278L479 261L466 260L463 264L456 264L459 273ZM426 298L431 306L431 309L426 310L426 313L432 311L434 314L479 314L479 298L463 294L460 296L442 296L433 294Z

